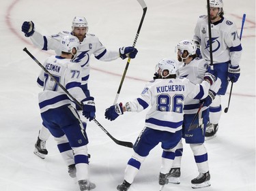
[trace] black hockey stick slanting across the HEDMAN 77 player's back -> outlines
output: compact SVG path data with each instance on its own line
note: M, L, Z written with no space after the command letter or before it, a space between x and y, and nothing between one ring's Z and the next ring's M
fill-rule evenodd
M76 103L76 105L78 105L81 109L83 109L83 105L77 101L74 97L72 97L72 95L70 94L70 92L68 92L68 90L66 88L64 88L61 84L59 84L59 82L55 79L55 77L53 77L53 75L29 52L29 50L27 50L27 48L24 48L23 51L25 51L27 54L29 54L29 56L35 61L35 63L37 63L46 73L48 73L48 75L51 77L51 79L54 80L54 82L56 84L58 84L59 87L61 87L61 89L66 92L66 94L74 101L74 103ZM117 139L115 139L108 131L106 131L106 129L96 120L96 118L94 118L94 122L102 129L102 131L104 131L104 133L106 133L106 135L108 135L115 143L117 143L117 145L122 145L124 147L133 147L133 144L130 142L126 142L126 141L119 141Z

